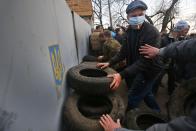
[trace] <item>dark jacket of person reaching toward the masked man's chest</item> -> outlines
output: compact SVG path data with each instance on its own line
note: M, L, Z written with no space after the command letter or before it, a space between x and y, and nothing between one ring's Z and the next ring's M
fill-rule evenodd
M174 58L175 72L178 79L196 77L196 39L172 43L161 49L160 55Z

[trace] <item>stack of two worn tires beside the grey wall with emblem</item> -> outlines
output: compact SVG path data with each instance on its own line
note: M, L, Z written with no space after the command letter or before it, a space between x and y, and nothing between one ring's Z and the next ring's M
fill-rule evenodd
M110 89L115 73L111 68L98 69L95 62L84 62L67 73L68 86L74 92L64 104L64 121L69 131L102 131L103 114L114 120L123 119L126 105L121 95Z

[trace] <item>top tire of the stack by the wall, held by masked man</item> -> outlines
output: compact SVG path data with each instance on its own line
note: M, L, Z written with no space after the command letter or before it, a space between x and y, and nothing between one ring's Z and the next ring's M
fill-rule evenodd
M96 65L96 62L84 62L72 67L67 73L69 86L80 94L102 95L111 92L112 78L107 75L116 72L111 68L98 69Z

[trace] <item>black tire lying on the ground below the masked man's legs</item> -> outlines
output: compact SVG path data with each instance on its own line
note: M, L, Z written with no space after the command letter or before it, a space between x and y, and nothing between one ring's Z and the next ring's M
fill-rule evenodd
M146 130L154 124L167 122L163 115L149 110L130 110L126 116L127 127L133 130Z

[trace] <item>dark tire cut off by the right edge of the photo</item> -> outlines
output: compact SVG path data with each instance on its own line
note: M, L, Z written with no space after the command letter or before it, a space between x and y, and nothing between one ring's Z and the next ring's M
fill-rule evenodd
M183 82L177 87L168 103L169 117L188 116L196 106L196 78Z

